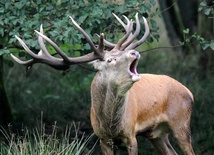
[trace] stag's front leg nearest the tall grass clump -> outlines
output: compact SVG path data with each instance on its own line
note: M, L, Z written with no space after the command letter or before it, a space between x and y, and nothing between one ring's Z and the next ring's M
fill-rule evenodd
M104 140L100 140L100 146L103 155L114 155L113 142L106 142Z

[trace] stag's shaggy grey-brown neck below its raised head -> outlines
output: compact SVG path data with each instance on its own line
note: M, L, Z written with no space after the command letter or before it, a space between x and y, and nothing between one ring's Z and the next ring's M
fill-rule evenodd
M114 78L115 77L114 75ZM129 86L130 85L130 86ZM100 73L95 76L92 87L92 106L100 123L113 131L122 125L122 119L127 106L130 84L121 82L116 84L114 79L107 78Z

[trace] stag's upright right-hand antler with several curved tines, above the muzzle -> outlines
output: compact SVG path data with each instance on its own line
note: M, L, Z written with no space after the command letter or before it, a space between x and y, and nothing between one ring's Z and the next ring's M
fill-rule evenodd
M147 20L143 17L143 21L144 21L144 26L145 26L145 33L143 35L143 37L138 40L137 42L133 43L134 40L137 38L137 36L140 33L140 22L139 22L139 18L138 18L138 13L136 13L135 15L135 20L136 20L136 29L134 34L131 33L132 31L132 25L133 25L133 21L129 20L126 16L123 16L127 22L127 24L125 24L117 15L115 15L113 13L114 17L117 19L117 21L123 26L123 28L126 31L126 35L128 35L128 37L125 39L123 39L122 41L120 40L117 44L111 43L107 40L104 40L104 44L105 46L109 47L109 48L117 48L120 50L130 50L130 49L135 49L138 46L140 46L148 37L149 35L149 26L148 26L148 22ZM131 27L131 28L130 28ZM98 36L100 37L100 36ZM127 39L127 40L126 40ZM126 40L126 42L124 42ZM118 48L119 47L119 48Z

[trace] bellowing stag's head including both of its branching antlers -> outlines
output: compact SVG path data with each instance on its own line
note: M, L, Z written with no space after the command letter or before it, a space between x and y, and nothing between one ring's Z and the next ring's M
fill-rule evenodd
M45 63L53 68L61 70L69 68L69 66L72 64L92 62L94 68L97 69L104 78L113 81L115 76L117 76L117 79L119 80L114 80L116 84L120 84L121 82L135 82L140 78L136 70L140 54L135 51L135 48L141 45L148 37L149 26L146 19L143 18L145 34L141 39L135 41L136 37L140 33L140 22L138 14L135 15L135 31L133 31L132 20L129 20L126 16L123 16L126 20L125 24L118 16L115 14L113 15L126 31L126 34L118 41L117 44L105 40L104 34L102 33L101 35L97 35L100 41L99 45L96 47L87 33L73 20L72 17L69 16L74 26L83 34L94 52L80 57L68 57L51 39L43 34L43 29L41 26L40 32L35 31L38 34L38 43L41 47L40 52L35 54L28 48L23 40L16 36L20 44L33 57L33 59L22 61L12 54L11 56L18 63L26 65L27 67L32 66L34 63ZM61 58L53 57L49 54L43 39L53 46ZM105 50L105 47L108 47L110 50Z

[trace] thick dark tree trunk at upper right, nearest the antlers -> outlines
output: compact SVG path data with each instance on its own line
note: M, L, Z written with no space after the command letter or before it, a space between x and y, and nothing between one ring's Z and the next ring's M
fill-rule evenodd
M183 41L184 29L189 28L191 33L194 32L197 20L196 2L159 0L159 5L171 44L173 46L179 45L179 41ZM191 50L194 50L194 47L187 46L176 49L176 51L182 51L184 55L189 54Z

